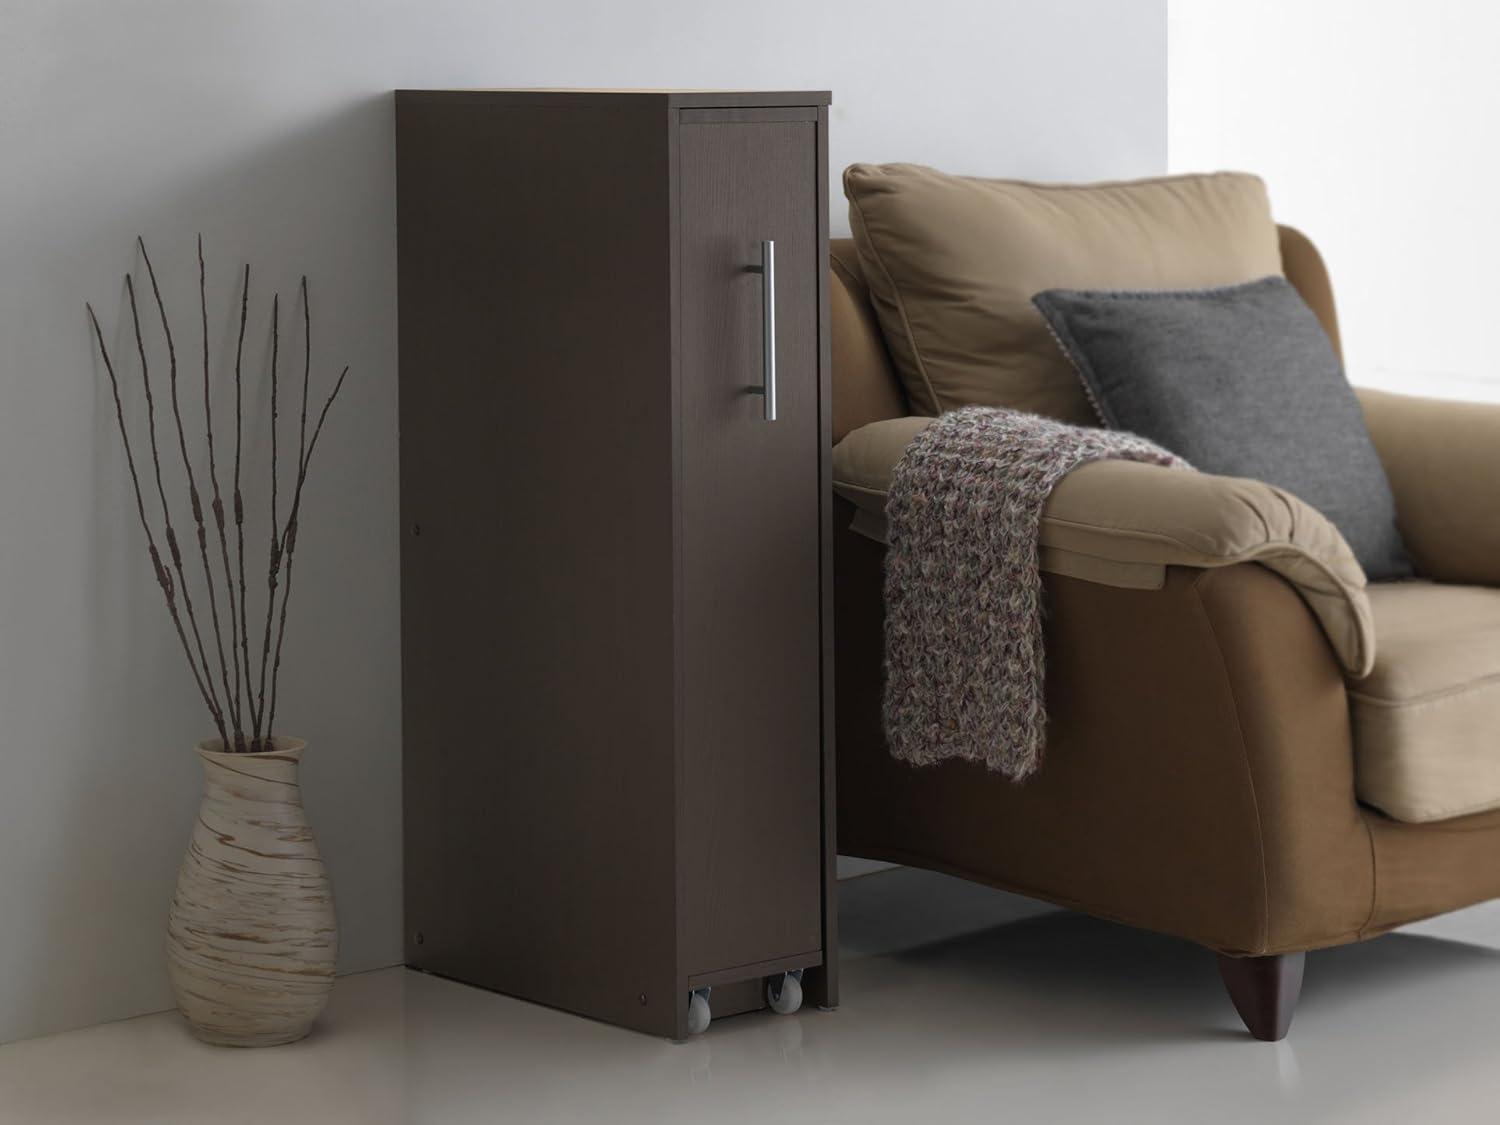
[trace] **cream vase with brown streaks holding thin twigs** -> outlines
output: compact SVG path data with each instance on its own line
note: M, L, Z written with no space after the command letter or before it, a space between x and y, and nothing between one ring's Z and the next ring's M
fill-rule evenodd
M219 746L198 746L202 802L166 921L172 990L206 1042L292 1042L322 1011L338 954L328 873L297 784L306 744Z

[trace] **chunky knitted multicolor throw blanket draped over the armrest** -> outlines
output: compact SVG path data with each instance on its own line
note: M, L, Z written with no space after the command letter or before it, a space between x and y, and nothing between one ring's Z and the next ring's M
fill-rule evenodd
M1090 460L1186 466L1119 430L966 406L922 430L885 506L885 732L930 765L984 762L1012 782L1047 734L1038 534L1047 496Z

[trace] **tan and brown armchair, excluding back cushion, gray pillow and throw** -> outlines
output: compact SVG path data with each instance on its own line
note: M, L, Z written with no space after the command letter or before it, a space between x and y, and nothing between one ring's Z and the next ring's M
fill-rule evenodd
M1328 274L1282 267L1338 345ZM1500 406L1364 393L1416 582L1256 482L1104 462L1042 528L1041 771L914 770L880 729L882 506L910 417L850 243L832 248L840 852L1216 951L1258 1038L1310 950L1500 896Z

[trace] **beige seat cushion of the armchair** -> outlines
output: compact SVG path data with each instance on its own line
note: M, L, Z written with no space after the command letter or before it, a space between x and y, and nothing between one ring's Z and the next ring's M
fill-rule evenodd
M1376 666L1350 684L1359 800L1396 820L1500 808L1500 590L1368 588Z

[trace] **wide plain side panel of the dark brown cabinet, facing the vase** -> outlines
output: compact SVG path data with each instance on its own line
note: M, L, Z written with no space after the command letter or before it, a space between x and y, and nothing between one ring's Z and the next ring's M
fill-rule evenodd
M669 1035L664 116L396 120L406 958Z

